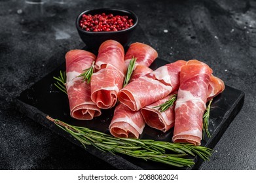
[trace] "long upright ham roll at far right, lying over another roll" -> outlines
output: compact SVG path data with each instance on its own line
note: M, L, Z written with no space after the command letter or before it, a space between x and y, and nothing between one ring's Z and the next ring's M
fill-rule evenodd
M181 84L175 104L174 142L201 144L211 73L206 63L195 59L181 67Z

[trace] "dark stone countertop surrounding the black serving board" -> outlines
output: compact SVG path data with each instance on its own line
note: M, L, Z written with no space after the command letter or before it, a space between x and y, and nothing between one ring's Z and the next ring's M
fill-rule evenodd
M204 61L225 84L246 93L242 110L199 169L256 169L256 2L132 2L1 1L0 169L115 169L14 107L16 96L56 69L65 52L84 46L75 18L99 7L134 10L159 58Z

